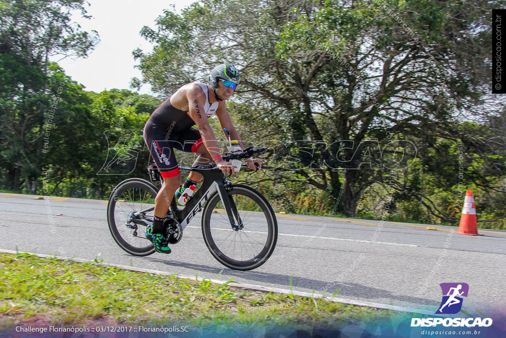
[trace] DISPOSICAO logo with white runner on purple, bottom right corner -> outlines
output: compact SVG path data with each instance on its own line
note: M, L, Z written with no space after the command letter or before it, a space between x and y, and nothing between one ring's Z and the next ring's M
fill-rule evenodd
M467 297L469 292L469 285L467 283L441 283L441 291L443 298L441 305L435 314L456 314L462 309L462 297ZM466 327L488 327L492 325L491 318L411 318L411 327L414 326L436 326L442 324L443 326L466 326Z

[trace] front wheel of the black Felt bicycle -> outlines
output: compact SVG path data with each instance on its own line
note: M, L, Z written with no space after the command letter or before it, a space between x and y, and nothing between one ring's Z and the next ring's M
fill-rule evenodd
M230 269L256 269L267 261L276 246L276 216L265 197L247 185L233 185L227 193L243 227L232 229L220 196L215 194L206 203L202 215L205 244L210 253Z

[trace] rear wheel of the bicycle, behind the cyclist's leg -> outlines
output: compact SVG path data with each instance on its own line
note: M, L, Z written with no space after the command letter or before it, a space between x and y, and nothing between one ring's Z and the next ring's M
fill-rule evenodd
M136 224L137 229L130 229L126 223L131 213L149 207L157 193L152 183L140 178L130 178L116 185L109 196L107 223L112 238L121 249L132 255L147 256L155 252L153 244L144 235L146 228ZM153 211L147 214L148 219L149 216L152 217L152 213ZM129 243L126 239L132 240L135 244Z

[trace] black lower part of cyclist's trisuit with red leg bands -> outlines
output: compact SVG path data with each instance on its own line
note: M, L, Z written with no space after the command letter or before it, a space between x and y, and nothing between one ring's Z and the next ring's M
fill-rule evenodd
M174 149L187 153L196 153L202 145L202 138L198 129L190 127L180 130L176 128L177 122L173 121L170 125L167 125L166 121L160 123L157 121L156 116L152 115L144 127L144 141L163 178L180 174Z

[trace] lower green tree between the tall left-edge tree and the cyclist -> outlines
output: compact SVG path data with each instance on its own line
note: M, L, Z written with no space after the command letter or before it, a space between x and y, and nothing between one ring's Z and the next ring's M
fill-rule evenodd
M52 67L58 70L58 83L66 83L59 104L67 115L55 116L42 159L47 193L104 198L118 175L146 176L149 153L140 130L159 100L129 90L85 92L62 69Z

